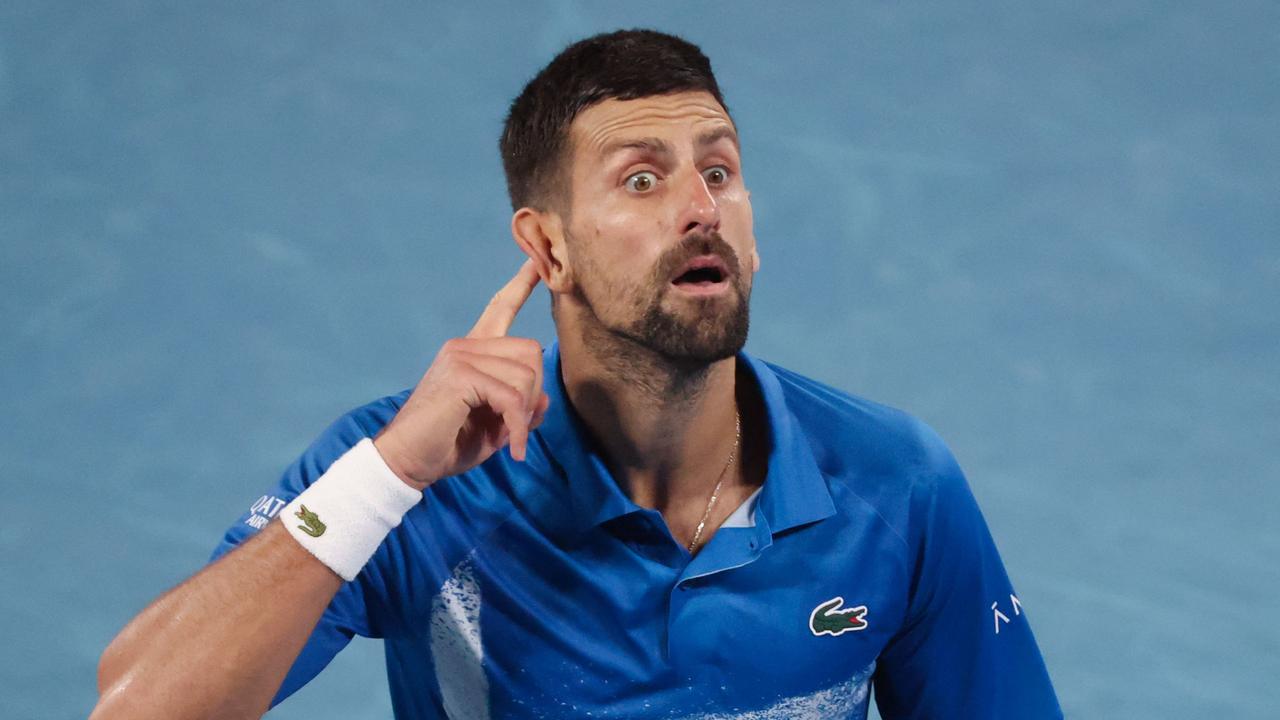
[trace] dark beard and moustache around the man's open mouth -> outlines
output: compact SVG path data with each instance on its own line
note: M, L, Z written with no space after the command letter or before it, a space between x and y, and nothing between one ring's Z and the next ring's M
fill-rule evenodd
M664 310L662 300L668 292L677 292L671 287L672 275L691 258L707 254L718 255L730 268L728 282L737 295L737 302L730 310L728 316L713 314L713 309L722 302L721 299L716 297L690 299L695 305L692 320L682 319ZM639 319L630 325L605 327L591 301L582 292L581 283L577 283L576 293L594 316L599 329L658 355L675 369L692 372L717 360L732 357L746 345L750 329L750 304L748 302L750 291L745 286L746 281L740 272L737 254L719 233L709 233L687 236L680 245L662 256L648 282L641 286L641 290L653 290L653 292L649 297L635 299L635 307L640 313Z

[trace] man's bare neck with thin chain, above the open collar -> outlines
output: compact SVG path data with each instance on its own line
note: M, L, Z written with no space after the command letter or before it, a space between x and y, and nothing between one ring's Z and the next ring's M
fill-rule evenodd
M559 347L568 398L634 502L671 523L673 509L700 512L722 471L726 487L741 484L741 462L726 468L739 409L735 357L681 365L607 332L564 333Z

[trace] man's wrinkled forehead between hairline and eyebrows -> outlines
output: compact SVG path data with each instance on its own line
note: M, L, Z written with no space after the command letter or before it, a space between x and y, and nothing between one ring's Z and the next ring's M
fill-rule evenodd
M733 120L709 92L609 99L579 113L570 126L573 146L593 155L607 152L618 142L682 132L695 138L723 136L737 145Z

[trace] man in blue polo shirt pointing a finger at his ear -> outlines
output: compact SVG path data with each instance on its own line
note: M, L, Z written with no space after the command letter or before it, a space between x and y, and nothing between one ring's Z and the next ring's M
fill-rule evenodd
M872 684L886 717L1059 717L942 442L741 351L760 260L707 58L579 42L502 152L529 260L120 633L95 717L255 716L353 634L402 717L864 717ZM539 282L545 350L507 336Z

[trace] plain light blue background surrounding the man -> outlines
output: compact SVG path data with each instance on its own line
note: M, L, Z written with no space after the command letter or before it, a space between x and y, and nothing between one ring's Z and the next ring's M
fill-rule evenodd
M749 350L947 438L1068 715L1271 716L1261 1L0 5L0 714L84 716L114 633L470 327L520 261L507 104L631 26L741 128ZM385 716L381 665L271 716Z

